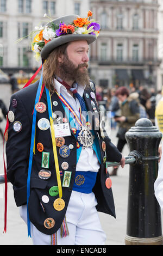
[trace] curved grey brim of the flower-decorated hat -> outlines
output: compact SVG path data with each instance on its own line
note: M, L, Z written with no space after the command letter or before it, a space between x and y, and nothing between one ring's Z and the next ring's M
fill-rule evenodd
M92 44L96 40L96 35L92 34L69 34L61 35L58 38L54 38L52 41L49 41L41 50L41 58L43 60L47 59L49 53L51 53L54 48L66 44L67 42L77 41L77 40L86 40L87 44Z

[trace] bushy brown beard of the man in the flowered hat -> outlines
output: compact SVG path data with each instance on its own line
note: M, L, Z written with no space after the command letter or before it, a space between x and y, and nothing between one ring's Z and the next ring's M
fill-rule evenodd
M83 69L83 67L85 68ZM79 64L76 68L73 62L70 59L68 59L67 54L65 54L63 62L60 63L60 78L62 80L74 80L78 84L85 86L90 82L87 67L87 63L83 63Z

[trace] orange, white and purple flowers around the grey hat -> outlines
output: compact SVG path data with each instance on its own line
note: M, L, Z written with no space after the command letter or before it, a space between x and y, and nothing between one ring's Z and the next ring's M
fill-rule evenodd
M91 18L92 11L90 10L88 11L86 18L77 18L70 24L65 24L61 21L60 25L55 25L51 17L47 16L47 14L44 14L43 16L51 20L48 25L44 27L35 27L36 30L32 31L30 35L28 35L32 38L33 34L39 32L35 35L32 42L32 50L35 52L35 58L37 60L39 59L42 48L46 44L48 44L49 41L58 38L59 36L67 34L92 34L96 36L99 35L100 25ZM21 41L22 39L18 41Z

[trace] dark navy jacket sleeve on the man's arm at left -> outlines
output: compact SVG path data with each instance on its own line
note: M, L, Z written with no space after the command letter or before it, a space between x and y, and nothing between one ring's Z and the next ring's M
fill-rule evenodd
M12 107L12 100L17 101L17 107ZM30 120L22 100L17 94L12 95L9 111L15 115L14 121L9 121L8 141L6 144L7 176L14 188L16 205L26 204L26 184L28 174L28 161L30 150L30 137L32 130L32 119ZM16 132L13 128L14 122L18 121L22 129ZM18 196L19 195L19 196ZM21 196L20 196L21 195Z

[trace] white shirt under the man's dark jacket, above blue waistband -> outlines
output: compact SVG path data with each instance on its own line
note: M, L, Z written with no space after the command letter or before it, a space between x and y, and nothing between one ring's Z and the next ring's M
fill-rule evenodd
M80 103L79 100L76 98L76 100L67 92L67 89L56 79L54 79L55 82L55 89L57 90L58 94L65 97L67 102L71 105L73 110L77 113L79 113L79 107ZM85 87L78 85L78 93L80 96L83 97ZM78 127L78 123L76 122L76 125ZM91 148L82 148L82 151L79 156L79 160L77 163L76 170L77 171L91 171L91 172L98 172L100 168L100 164L98 161L98 158L96 156L96 153Z

